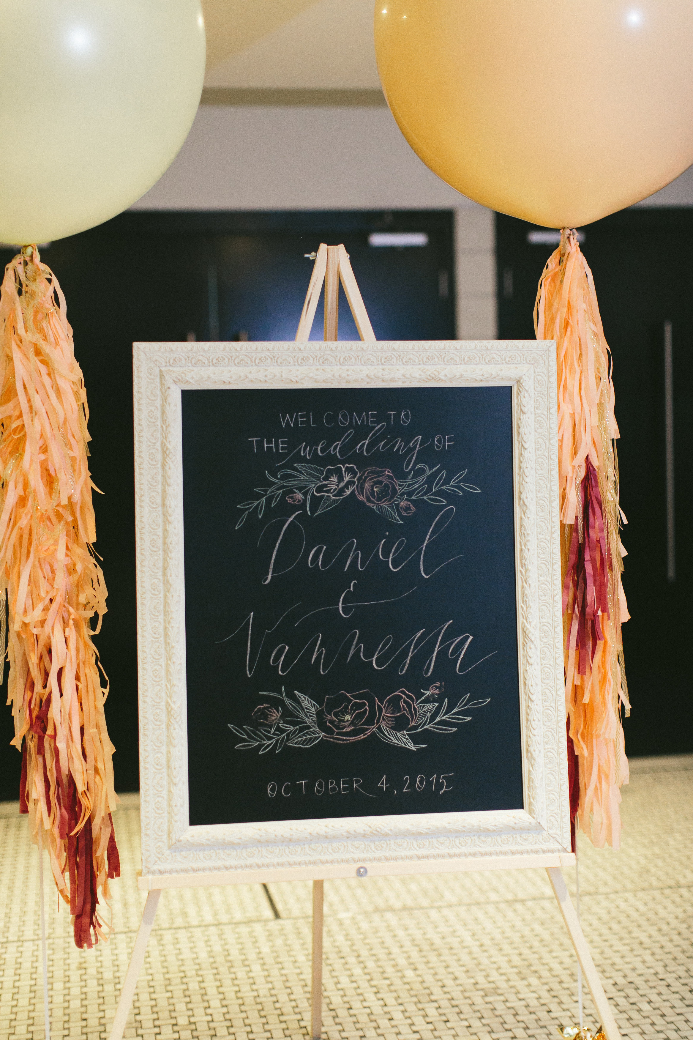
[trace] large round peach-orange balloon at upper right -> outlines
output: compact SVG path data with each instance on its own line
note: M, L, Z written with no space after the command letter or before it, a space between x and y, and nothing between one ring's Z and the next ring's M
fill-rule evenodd
M411 148L458 191L589 224L693 162L691 0L378 0L375 49Z

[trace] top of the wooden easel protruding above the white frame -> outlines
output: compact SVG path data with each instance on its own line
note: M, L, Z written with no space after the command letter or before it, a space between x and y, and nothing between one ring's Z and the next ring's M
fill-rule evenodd
M344 245L326 245L325 242L321 242L317 253L305 253L304 256L310 260L314 259L315 264L305 294L305 303L301 311L300 321L298 322L296 342L305 342L311 335L313 319L315 318L323 283L325 286L324 339L326 341L337 340L339 283L341 282L356 329L358 330L358 336L363 342L374 343L375 335L373 327L371 326L368 312L358 290L358 285L356 284L356 279L351 269L349 254L344 249Z

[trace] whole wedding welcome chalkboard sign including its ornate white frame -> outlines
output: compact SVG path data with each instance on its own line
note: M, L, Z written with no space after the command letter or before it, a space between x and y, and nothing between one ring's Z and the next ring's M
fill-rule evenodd
M555 379L535 342L135 345L145 874L561 861Z

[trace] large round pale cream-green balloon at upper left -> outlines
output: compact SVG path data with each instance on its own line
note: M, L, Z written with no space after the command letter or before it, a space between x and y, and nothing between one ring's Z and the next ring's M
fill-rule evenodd
M199 0L0 0L0 239L84 231L156 183L199 102Z

